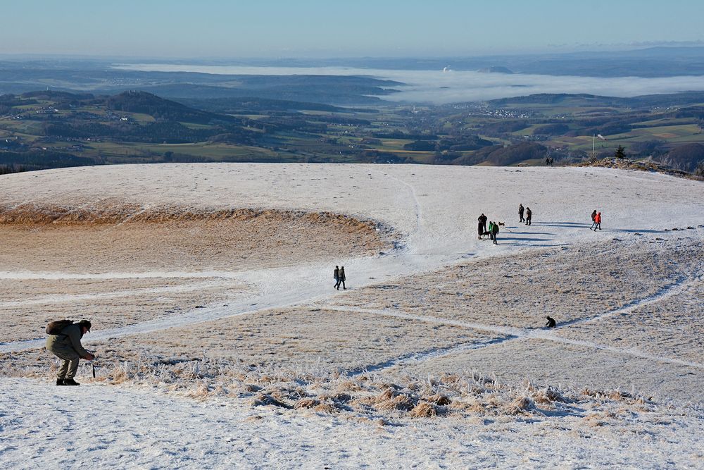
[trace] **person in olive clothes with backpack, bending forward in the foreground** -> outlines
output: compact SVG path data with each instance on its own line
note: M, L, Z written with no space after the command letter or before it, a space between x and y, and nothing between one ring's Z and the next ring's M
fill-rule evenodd
M61 369L56 374L56 385L80 385L73 378L78 371L80 359L92 361L95 356L83 349L81 338L88 333L91 323L88 320L81 320L73 323L70 320L52 321L46 326L46 350L54 354L59 359L63 359Z

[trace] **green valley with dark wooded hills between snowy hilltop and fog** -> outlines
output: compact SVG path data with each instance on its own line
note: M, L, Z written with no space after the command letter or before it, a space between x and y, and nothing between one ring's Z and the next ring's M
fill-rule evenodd
M40 90L0 95L0 172L189 161L510 166L543 164L546 156L559 165L588 161L593 150L612 156L620 146L631 158L693 172L704 161L703 125L704 92L534 94L353 109L257 97ZM605 137L594 148L596 135Z

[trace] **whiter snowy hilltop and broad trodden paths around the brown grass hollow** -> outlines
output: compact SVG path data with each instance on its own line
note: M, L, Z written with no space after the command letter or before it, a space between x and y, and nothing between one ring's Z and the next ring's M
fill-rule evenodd
M4 181L6 206L81 202L89 208L118 199L143 206L333 211L381 221L403 235L403 245L389 254L331 259L325 265L225 273L0 273L0 278L14 279L224 276L253 287L251 295L233 299L227 307L220 304L177 319L96 331L87 338L89 342L329 297L335 264L346 266L348 285L363 287L452 266L470 257L572 245L595 237L665 236L665 228L704 223L704 185L605 168L208 164L77 168L40 172L31 180L21 174L10 176ZM679 190L672 190L673 186ZM531 207L533 225L516 222L518 202ZM588 230L591 208L604 213L604 230L599 233ZM482 213L505 223L499 245L477 240L476 221ZM42 344L43 339L6 342L0 352Z

